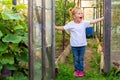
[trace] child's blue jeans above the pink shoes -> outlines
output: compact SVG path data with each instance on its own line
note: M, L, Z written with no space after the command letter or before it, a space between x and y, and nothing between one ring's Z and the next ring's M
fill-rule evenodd
M81 47L71 47L72 54L73 54L73 62L74 62L74 69L82 70L84 69L84 53L85 53L85 46Z

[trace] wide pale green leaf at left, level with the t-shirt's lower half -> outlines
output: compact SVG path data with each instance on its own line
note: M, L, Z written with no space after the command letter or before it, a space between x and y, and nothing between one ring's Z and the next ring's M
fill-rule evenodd
M2 41L3 42L12 42L12 43L19 43L21 41L21 37L13 34L8 34L5 36Z

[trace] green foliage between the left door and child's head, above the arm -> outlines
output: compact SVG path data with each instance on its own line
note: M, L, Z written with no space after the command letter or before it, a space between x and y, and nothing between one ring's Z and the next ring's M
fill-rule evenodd
M69 8L74 7L74 3L70 0L66 0L66 6L65 6L65 0L55 0L55 23L56 25L64 25L64 18L65 23L70 21L70 15L69 15ZM66 15L66 16L64 16Z

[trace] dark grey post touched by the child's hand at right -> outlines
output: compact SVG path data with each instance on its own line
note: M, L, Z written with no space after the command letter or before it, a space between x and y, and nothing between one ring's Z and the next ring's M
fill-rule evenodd
M104 0L104 72L110 71L111 0Z

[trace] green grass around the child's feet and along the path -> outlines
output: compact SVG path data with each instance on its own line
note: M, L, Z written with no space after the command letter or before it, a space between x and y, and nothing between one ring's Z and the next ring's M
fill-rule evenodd
M112 67L110 73L100 73L100 54L97 53L97 43L88 43L88 47L91 47L93 52L93 58L91 58L90 60L90 65L92 69L89 71L85 71L83 77L73 76L74 70L72 67L72 54L69 54L67 56L66 63L58 63L58 74L55 80L120 80L120 76L114 75L114 70Z

